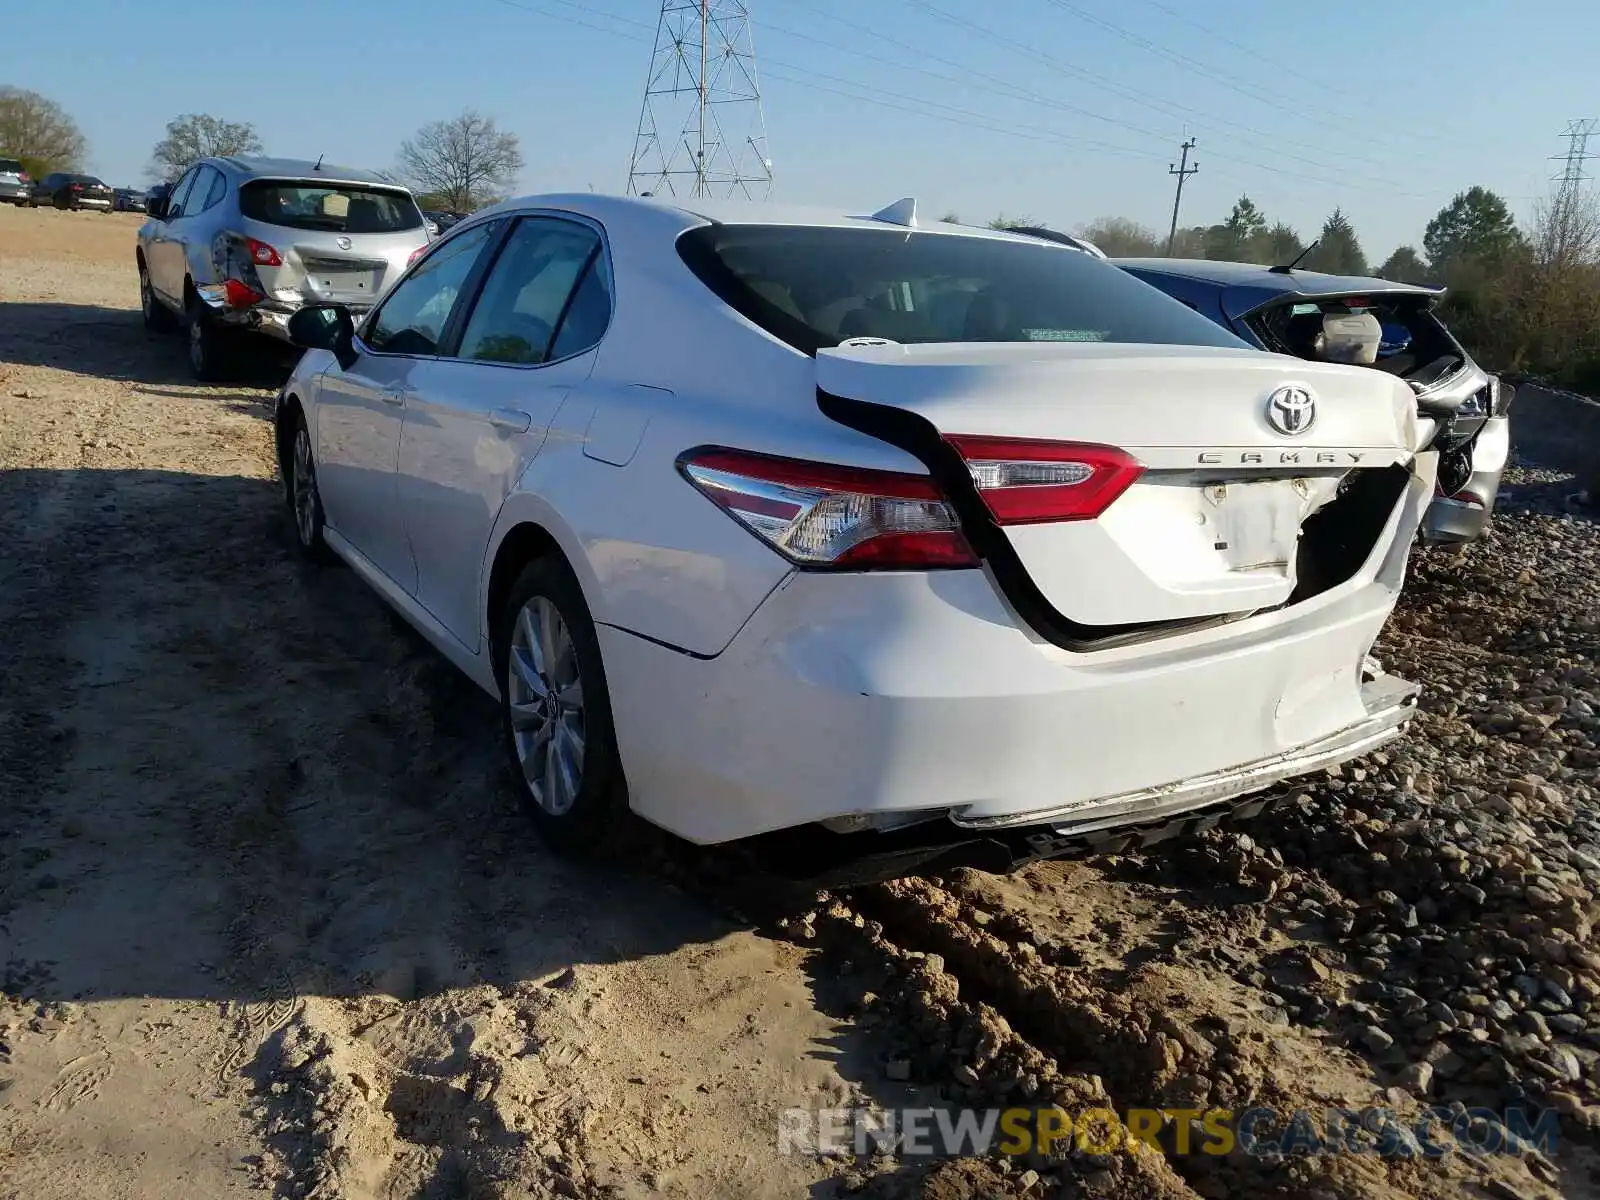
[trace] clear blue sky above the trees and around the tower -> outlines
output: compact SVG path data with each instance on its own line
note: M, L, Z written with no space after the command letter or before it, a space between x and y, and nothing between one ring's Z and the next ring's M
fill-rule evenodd
M1600 117L1594 0L749 0L774 197L1165 232L1250 195L1304 237L1341 206L1378 262L1474 184L1526 214ZM392 166L477 109L518 192L624 192L659 0L11 5L0 85L59 101L112 186L168 120L250 122L269 154ZM1517 66L1528 64L1528 66ZM1600 133L1590 149L1600 154ZM1600 158L1589 163L1600 176Z

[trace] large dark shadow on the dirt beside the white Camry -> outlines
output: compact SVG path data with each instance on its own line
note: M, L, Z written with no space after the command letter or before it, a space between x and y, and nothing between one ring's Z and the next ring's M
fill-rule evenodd
M296 558L275 482L10 470L0 541L0 992L245 1021L307 1000L430 1011L573 971L650 990L650 960L691 947L659 1005L734 989L776 1045L798 1040L784 1053L896 1102L848 981L814 968L821 1019L762 982L798 954L749 933L803 890L746 888L736 853L666 837L624 864L549 853L496 704L352 571ZM258 1085L272 1046L240 1064Z

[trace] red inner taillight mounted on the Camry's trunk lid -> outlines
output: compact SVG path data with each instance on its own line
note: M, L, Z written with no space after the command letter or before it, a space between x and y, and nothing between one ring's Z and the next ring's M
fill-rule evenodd
M965 459L998 525L1093 520L1144 472L1115 446L1021 437L946 440Z

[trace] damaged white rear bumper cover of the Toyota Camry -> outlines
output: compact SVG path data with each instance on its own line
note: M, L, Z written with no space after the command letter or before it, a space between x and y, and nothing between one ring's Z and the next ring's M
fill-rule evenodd
M1432 491L1418 472L1346 584L1094 653L1026 632L982 570L794 573L709 658L597 613L632 806L698 843L819 826L872 853L1170 822L1338 765L1414 712L1368 654Z

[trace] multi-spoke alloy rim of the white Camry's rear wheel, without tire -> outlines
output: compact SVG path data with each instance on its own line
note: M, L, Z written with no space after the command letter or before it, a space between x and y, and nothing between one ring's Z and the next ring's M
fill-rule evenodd
M507 702L522 778L533 802L563 816L584 770L584 688L571 630L547 597L530 597L512 624Z

